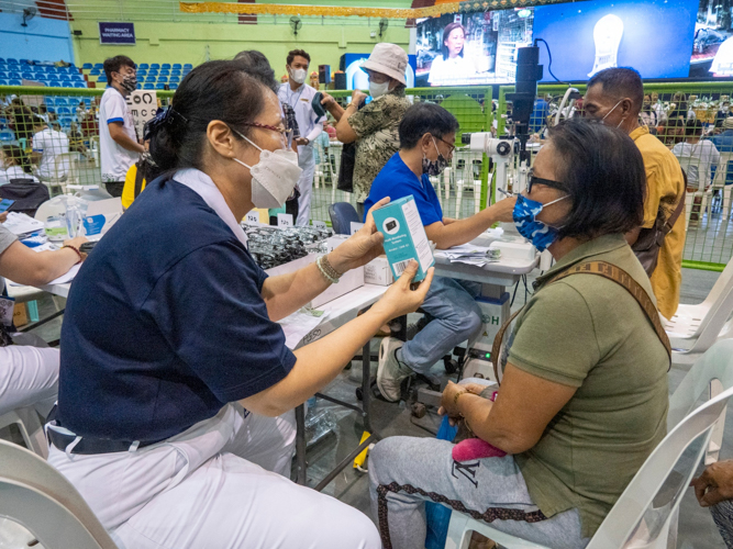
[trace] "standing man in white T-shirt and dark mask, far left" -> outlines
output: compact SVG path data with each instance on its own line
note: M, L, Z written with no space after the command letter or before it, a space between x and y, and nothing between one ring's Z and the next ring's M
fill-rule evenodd
M99 148L102 181L112 197L122 197L130 167L145 152L137 142L135 123L125 98L137 88L134 61L124 55L104 60L109 87L99 107Z

